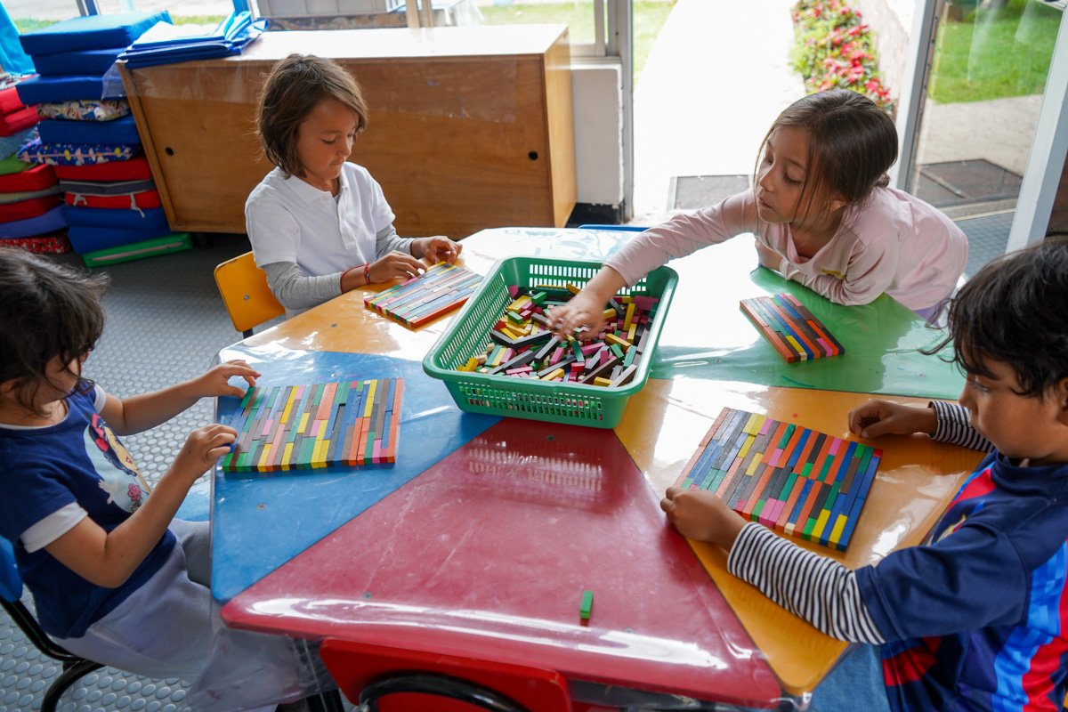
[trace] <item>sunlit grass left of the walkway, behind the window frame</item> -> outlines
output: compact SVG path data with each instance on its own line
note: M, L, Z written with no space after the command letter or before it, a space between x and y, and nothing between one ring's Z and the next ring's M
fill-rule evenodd
M634 0L634 82L642 76L653 42L675 6L675 0ZM480 7L486 25L541 25L563 22L575 44L594 41L593 6L582 2L550 2Z

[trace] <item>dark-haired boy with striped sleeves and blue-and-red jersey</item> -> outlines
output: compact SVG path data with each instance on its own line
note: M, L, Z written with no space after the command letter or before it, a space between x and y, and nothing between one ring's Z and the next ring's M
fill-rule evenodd
M1006 255L949 306L954 360L968 377L959 405L873 400L849 413L859 437L924 432L990 450L922 545L851 571L748 522L708 492L670 488L661 507L682 535L726 549L732 573L780 605L828 635L879 646L884 709L1061 710L1068 687L1066 306L1068 241ZM852 684L858 701L865 691Z

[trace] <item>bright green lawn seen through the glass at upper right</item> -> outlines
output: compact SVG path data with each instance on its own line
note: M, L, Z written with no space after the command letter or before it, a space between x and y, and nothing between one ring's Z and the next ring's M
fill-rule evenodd
M952 104L1041 94L1059 25L1059 11L1033 0L940 22L930 97Z

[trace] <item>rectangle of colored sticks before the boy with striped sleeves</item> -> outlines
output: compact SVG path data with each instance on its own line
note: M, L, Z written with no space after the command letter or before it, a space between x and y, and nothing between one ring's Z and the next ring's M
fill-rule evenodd
M724 408L675 482L742 517L845 551L882 450Z

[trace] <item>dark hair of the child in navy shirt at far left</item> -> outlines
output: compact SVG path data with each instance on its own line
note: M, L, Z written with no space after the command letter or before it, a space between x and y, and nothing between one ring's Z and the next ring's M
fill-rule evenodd
M104 332L107 274L91 274L15 248L0 248L0 382L13 381L19 406L33 406L48 363L69 364ZM89 387L82 381L80 387Z

